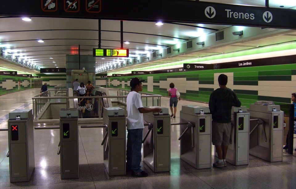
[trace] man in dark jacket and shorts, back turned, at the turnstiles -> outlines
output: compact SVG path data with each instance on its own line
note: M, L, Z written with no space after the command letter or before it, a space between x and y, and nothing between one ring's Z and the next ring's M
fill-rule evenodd
M241 102L236 94L226 87L227 75L220 74L218 77L219 89L211 93L209 109L212 114L212 143L218 153L218 161L214 167L226 166L226 154L231 135L231 108L241 107Z

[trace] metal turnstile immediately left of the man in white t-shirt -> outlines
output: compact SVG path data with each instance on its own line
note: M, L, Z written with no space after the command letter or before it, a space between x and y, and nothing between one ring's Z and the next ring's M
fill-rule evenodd
M104 108L104 166L109 176L125 175L126 164L126 123L125 110Z

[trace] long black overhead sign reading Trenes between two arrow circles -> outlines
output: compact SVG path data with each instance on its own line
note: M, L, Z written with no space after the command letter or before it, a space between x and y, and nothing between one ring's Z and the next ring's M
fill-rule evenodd
M18 6L11 6L11 1L1 1L0 16L27 15L150 22L161 18L163 22L296 29L296 10L285 8L189 0L129 0L129 3L118 0L14 0L13 3Z

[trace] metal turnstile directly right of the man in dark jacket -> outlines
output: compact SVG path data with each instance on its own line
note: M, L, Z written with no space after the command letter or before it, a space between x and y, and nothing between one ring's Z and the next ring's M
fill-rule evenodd
M232 107L231 138L226 161L233 165L249 164L249 121L250 113L245 106Z

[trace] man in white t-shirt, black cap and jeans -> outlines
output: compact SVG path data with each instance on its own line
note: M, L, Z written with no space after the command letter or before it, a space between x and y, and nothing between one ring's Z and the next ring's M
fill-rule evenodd
M144 108L141 95L143 90L142 82L138 77L131 79L131 91L127 95L127 147L126 147L126 168L132 171L132 176L145 177L148 174L142 171L140 163L142 161L142 139L144 120L143 113L159 112L161 108Z

